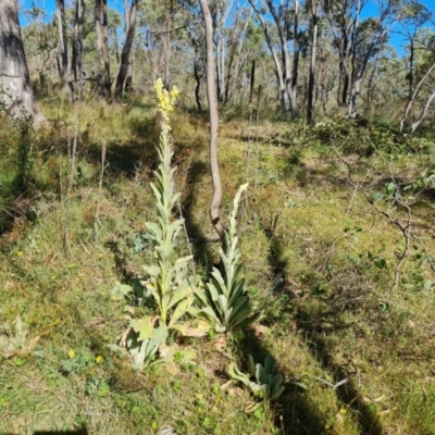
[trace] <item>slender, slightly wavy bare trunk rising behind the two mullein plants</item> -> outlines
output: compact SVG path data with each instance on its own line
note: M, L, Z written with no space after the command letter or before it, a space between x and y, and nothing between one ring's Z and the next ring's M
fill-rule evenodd
M222 184L217 163L217 103L214 90L213 23L207 0L200 0L200 4L206 24L207 98L210 111L210 169L213 183L210 219L221 239L222 246L225 246L225 228L219 217L219 206L222 199Z

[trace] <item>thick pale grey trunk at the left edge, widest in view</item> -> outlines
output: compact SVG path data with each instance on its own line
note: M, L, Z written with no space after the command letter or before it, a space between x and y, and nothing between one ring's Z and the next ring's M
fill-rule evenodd
M42 123L30 86L16 0L0 1L0 109Z

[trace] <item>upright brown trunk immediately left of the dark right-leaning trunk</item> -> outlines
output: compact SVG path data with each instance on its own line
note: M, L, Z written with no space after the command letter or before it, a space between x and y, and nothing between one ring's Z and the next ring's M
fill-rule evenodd
M101 21L102 14L102 21ZM109 52L109 29L108 29L108 1L96 0L95 22L97 34L97 49L100 55L102 67L102 83L100 92L108 99L111 97L112 80L110 77L110 52Z

